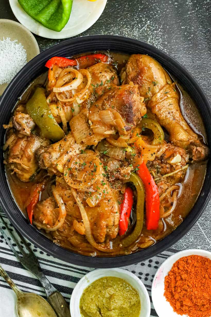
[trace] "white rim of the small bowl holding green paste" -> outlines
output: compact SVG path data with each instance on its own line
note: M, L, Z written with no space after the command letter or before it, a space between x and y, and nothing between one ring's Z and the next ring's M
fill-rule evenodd
M139 285L139 288L142 289L143 291L143 294L144 294L144 300L146 301L146 307L147 307L147 314L145 317L150 317L150 311L151 311L151 302L150 302L150 297L149 297L149 293L144 285L144 283L135 275L133 274L132 272L126 270L126 269L123 269L123 268L98 268L98 269L94 269L92 271L90 271L89 273L87 273L86 275L84 275L79 281L78 283L76 284L76 286L74 287L73 289L73 292L71 294L71 298L70 298L70 313L71 315L75 316L74 314L74 311L76 309L75 307L75 297L78 296L78 288L80 288L80 284L84 282L84 280L89 280L91 279L91 277L93 275L95 275L96 273L102 273L103 276L96 276L94 277L93 281L88 281L89 285L92 284L94 281L97 281L98 279L102 278L102 277L107 277L107 276L110 276L110 275L104 275L106 274L106 272L110 272L110 271L114 271L114 272L117 272L117 273L121 273L123 275L128 275L130 276L133 280L135 280L137 282L137 284ZM120 278L124 279L124 277L120 276ZM129 283L129 282L128 282ZM89 285L83 285L82 286L82 289L83 289L83 292L84 290L89 286ZM73 308L72 308L73 307ZM77 316L78 317L78 316Z

